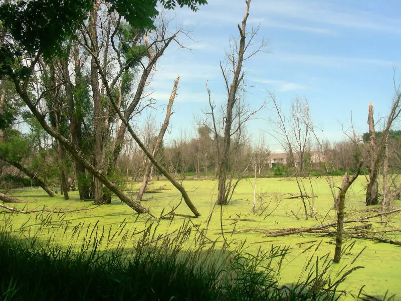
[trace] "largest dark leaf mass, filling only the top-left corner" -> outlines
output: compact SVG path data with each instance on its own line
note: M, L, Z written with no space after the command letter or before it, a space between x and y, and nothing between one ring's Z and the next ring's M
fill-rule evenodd
M61 54L63 41L82 25L92 4L93 0L3 2L0 20L13 42L4 45L0 61L11 66L23 53L41 52L47 58Z

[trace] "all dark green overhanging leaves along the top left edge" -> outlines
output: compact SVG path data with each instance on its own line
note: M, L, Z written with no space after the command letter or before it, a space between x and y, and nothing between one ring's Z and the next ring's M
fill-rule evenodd
M95 0L11 0L0 4L0 76L12 72L24 53L45 58L62 53L63 42L80 28ZM192 11L207 0L160 0L165 9L177 5ZM117 12L133 27L153 28L157 0L109 0L109 13Z

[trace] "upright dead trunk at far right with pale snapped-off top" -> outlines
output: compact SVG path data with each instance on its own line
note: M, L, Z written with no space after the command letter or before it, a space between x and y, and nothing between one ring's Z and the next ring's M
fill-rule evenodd
M377 205L379 203L378 200L378 182L377 182L377 174L379 168L379 154L377 154L376 147L376 133L374 130L374 121L373 121L373 104L369 103L369 113L367 116L367 123L369 125L369 157L370 157L370 166L369 166L369 182L366 186L366 205Z

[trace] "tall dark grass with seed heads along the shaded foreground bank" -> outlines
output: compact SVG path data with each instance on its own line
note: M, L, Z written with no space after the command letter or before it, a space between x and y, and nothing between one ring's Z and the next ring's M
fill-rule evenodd
M245 243L218 247L188 220L157 234L156 223L105 229L38 213L28 230L13 229L13 214L4 213L0 227L1 300L337 300L338 285L360 268L352 262L334 274L329 254L315 255L317 245L299 280L280 285L288 247L257 254ZM52 236L55 228L62 239Z

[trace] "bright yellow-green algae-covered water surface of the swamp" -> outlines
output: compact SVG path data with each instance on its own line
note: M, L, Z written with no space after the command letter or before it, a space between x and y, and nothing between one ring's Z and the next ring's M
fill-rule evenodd
M341 178L336 181L340 183ZM346 200L346 216L367 216L374 213L378 208L370 208L372 212L366 212L364 204L363 178L358 178L349 189ZM312 187L309 179L303 179L306 190L310 196L314 195L314 208L317 221L313 217L305 219L302 200L300 198L288 199L291 195L299 194L295 179L267 178L258 179L256 186L256 212L252 213L254 180L243 180L232 200L227 206L216 206L217 181L214 180L187 180L183 185L188 192L192 202L202 214L201 217L191 221L194 231L203 229L206 236L211 240L217 240L223 244L224 239L235 248L245 242L246 252L256 253L259 249L270 249L272 246L288 246L289 254L286 256L280 282L293 283L300 277L305 263L310 256L323 257L330 253L334 254L334 238L318 234L291 235L284 237L266 237L266 233L273 229L312 227L319 224L335 221L336 214L333 210L333 198L329 186L323 178L313 178ZM138 183L128 185L126 193L134 195L139 188ZM162 188L162 189L160 189ZM158 190L160 189L160 190ZM191 212L182 201L179 193L166 181L152 182L150 191L146 193L142 204L155 216L176 208L179 214L190 215ZM337 190L336 190L337 192ZM89 236L110 238L110 244L123 242L126 248L133 248L138 240L141 229L150 223L156 224L148 215L136 214L118 199L113 199L111 204L94 206L91 202L79 201L78 192L69 192L70 200L65 201L61 195L54 198L48 197L39 188L16 189L11 193L13 196L26 200L28 203L11 204L18 208L40 209L43 206L55 210L76 210L70 213L31 213L10 214L5 211L0 215L0 222L9 225L9 231L25 237L39 237L44 242L56 242L63 246L74 245L79 248L80 241ZM10 205L10 204L8 204ZM313 204L311 204L313 205ZM393 202L394 208L401 207L400 201ZM309 205L308 205L309 206ZM1 209L1 208L0 208ZM355 215L355 212L358 212ZM377 211L377 210L376 210ZM172 233L178 229L184 217L176 216L173 221L162 219L157 226L157 233ZM388 224L380 223L379 218L369 221L374 230L399 228L401 214L394 214ZM345 225L347 226L347 225ZM351 227L351 226L350 226ZM95 230L93 230L95 229ZM330 230L334 230L331 228ZM401 240L399 232L397 235L388 236L393 240ZM173 235L173 234L172 234ZM390 235L390 234L388 234ZM341 270L345 264L349 264L363 249L354 265L363 266L353 271L340 289L348 292L347 297L357 295L359 288L365 285L364 290L371 295L383 296L388 289L390 294L401 297L401 249L397 245L378 243L365 239L346 239L345 245L356 241L355 245L342 258L340 264L336 265L332 273ZM105 246L105 245L103 245ZM102 247L99 246L100 248ZM107 246L110 248L110 245ZM185 246L190 247L190 246Z

